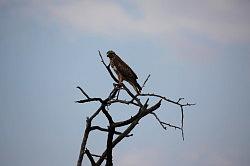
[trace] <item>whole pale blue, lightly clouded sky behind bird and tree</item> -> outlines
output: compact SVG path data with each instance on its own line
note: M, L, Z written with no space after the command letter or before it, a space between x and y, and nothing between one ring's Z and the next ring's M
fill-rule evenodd
M85 118L98 105L75 104L83 98L75 87L106 97L113 82L98 50L113 49L140 83L151 74L144 92L197 103L185 111L185 141L147 117L115 148L115 165L247 166L249 11L245 0L0 0L1 165L76 163ZM179 124L168 103L158 114ZM104 136L90 140L101 153Z

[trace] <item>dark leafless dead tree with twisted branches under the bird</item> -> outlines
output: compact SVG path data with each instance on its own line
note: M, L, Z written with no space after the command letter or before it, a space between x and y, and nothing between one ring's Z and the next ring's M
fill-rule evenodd
M101 58L102 64L105 66L107 71L109 72L110 76L113 78L113 80L117 83L118 80L117 78L113 75L110 65L107 65L103 57L99 51L99 55ZM150 75L147 77L147 79L144 81L142 88L145 87L146 82L148 81ZM113 148L121 142L125 137L131 137L133 134L130 134L131 131L136 127L136 125L139 123L139 121L146 116L153 115L155 119L158 121L158 123L161 125L163 129L167 129L167 127L175 128L181 131L182 133L182 139L184 140L184 130L183 130L183 120L184 120L184 107L187 106L192 106L195 104L190 104L190 103L184 103L182 100L184 98L179 98L178 100L170 100L164 96L155 94L155 93L141 93L141 94L136 94L134 95L124 84L118 85L114 83L114 87L109 93L108 97L106 99L98 98L98 97L90 97L81 87L77 87L82 94L85 96L85 99L76 101L77 103L88 103L88 102L99 102L100 106L99 108L90 116L87 117L86 119L86 127L85 131L83 134L83 139L82 139L82 144L80 148L80 154L79 158L77 161L77 166L82 165L83 157L84 155L88 157L90 163L92 166L99 166L101 165L104 161L106 161L106 166L112 166L112 154L113 154ZM119 98L119 92L120 91L125 91L128 97L130 98L129 100L127 99L120 99ZM142 98L147 98L145 102L142 102ZM154 105L149 105L148 102L151 98L157 98L158 102L156 102ZM172 125L170 123L164 122L160 120L160 118L157 116L155 111L160 108L162 102L168 102L171 104L176 105L177 107L180 108L181 112L181 126L176 126ZM117 121L115 122L110 115L108 111L108 107L111 106L114 103L119 103L119 104L126 104L128 106L136 106L137 107L137 113L130 117L129 119L123 120L123 121ZM108 127L103 128L98 125L92 125L92 120L95 119L98 115L104 115L105 118L108 120ZM121 127L126 127L124 131L119 131L118 129ZM99 130L107 134L107 143L106 143L106 149L103 151L101 155L96 155L92 154L87 146L87 141L88 141L88 136L90 132L93 132L95 130ZM96 159L97 158L97 159Z

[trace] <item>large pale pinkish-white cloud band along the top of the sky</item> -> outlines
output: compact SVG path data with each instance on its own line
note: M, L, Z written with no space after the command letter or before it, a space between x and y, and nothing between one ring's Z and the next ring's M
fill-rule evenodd
M130 1L140 17L117 1L73 1L50 8L53 17L82 32L109 36L178 36L191 32L217 42L250 40L250 3L233 0Z

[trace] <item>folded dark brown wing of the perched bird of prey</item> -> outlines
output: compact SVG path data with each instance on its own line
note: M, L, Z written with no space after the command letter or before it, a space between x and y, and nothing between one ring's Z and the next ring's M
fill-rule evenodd
M116 66L118 72L120 72L124 77L135 80L138 78L135 72L119 56L116 56L114 59L114 65Z

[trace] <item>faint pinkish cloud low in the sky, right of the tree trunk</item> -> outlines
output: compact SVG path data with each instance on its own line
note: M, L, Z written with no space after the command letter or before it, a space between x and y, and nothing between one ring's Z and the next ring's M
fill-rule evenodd
M172 147L168 143L161 147L145 146L115 150L114 165L119 166L233 166L246 165L248 153L234 147L215 146L213 143L176 144Z

